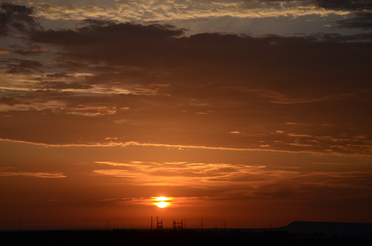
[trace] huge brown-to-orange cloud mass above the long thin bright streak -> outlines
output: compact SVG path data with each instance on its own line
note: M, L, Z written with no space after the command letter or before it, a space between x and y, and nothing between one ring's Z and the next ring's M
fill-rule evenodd
M48 74L27 74L28 88L36 91L8 96L31 103L28 108L34 111L6 112L13 116L4 121L6 128L21 128L20 118L33 121L23 121L29 127L23 136L1 132L3 138L369 155L363 147L369 144L363 141L370 141L365 122L372 115L365 107L371 94L368 33L187 37L168 25L86 23L76 30L31 34L32 41L57 50L48 66L8 63L8 73L23 67ZM61 91L92 88L90 93ZM43 124L44 140L30 130L42 120L58 122ZM71 129L69 121L89 127ZM367 138L353 139L360 135ZM111 136L118 139L106 139Z

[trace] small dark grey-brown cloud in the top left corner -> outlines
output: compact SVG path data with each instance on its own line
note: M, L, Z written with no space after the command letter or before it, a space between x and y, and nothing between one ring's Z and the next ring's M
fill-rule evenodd
M41 26L31 16L33 7L3 3L0 6L0 36L9 36L10 32L26 32L40 29Z

